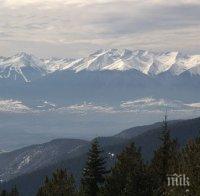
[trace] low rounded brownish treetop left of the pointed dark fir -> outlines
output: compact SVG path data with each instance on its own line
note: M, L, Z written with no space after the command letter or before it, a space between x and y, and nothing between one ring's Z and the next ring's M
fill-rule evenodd
M74 196L76 195L75 182L72 175L66 170L59 169L53 173L51 180L45 178L44 185L39 189L37 196Z

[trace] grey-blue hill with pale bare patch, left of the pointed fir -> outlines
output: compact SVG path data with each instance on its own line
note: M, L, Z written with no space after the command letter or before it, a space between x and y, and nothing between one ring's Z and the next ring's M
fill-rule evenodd
M65 158L80 155L79 149L88 142L78 139L57 139L0 154L1 181L52 165Z

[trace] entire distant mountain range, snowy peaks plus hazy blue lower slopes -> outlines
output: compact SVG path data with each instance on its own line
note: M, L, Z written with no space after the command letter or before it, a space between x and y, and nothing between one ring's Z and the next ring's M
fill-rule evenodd
M115 103L154 95L197 101L199 64L200 55L178 52L110 49L75 60L19 53L0 59L1 98Z

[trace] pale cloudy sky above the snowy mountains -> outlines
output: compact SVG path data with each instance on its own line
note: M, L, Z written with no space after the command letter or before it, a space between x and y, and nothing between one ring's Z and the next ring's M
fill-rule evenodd
M0 0L0 56L100 48L200 54L200 0Z

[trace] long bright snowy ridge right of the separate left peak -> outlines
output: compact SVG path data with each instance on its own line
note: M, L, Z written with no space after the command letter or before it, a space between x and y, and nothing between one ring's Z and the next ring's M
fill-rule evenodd
M75 72L104 70L137 70L146 75L170 72L180 75L200 64L200 55L184 55L179 52L156 53L146 50L98 50L86 58L70 62L63 69ZM195 69L192 69L193 71Z

